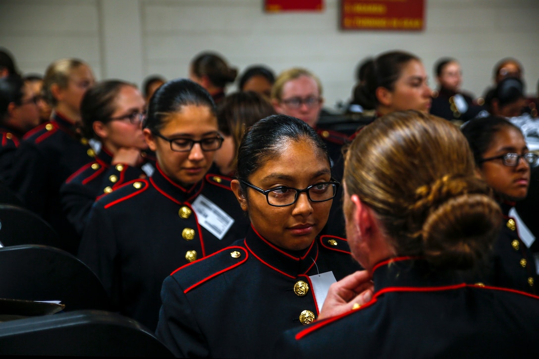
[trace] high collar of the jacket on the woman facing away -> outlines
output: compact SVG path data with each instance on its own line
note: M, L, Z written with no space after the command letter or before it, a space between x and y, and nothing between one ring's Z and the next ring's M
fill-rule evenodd
M435 270L426 260L395 257L378 263L372 269L375 293L389 287L444 287L462 284L453 271Z

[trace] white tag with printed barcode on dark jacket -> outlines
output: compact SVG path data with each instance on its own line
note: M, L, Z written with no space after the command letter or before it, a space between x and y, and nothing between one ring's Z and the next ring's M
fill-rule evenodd
M234 223L234 219L228 213L203 195L198 195L191 207L197 215L198 224L219 239L223 239Z

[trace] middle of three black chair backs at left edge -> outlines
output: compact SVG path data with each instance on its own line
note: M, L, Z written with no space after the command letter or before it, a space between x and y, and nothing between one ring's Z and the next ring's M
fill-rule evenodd
M0 248L0 273L0 298L59 300L65 305L65 312L112 308L94 272L58 248L40 245Z

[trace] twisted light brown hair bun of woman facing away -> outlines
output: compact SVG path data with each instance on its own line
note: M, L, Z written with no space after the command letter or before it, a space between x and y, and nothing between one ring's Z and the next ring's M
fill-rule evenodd
M497 236L500 206L479 178L444 176L416 191L412 212L424 218L425 259L439 268L468 269L485 257Z

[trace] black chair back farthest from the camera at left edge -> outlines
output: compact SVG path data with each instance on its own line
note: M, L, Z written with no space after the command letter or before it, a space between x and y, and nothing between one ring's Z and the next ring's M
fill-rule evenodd
M25 208L0 204L0 243L3 246L39 244L61 248L58 234L36 213Z

